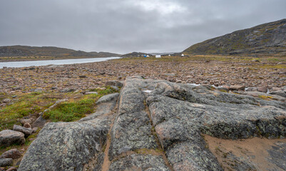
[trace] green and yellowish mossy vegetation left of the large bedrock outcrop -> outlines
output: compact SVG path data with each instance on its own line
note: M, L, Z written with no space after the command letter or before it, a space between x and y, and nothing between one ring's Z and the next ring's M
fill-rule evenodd
M58 104L55 108L44 113L44 117L53 122L57 121L73 121L92 113L95 108L95 102L98 98L109 93L114 93L116 90L106 87L105 90L93 89L98 92L98 95L83 95L81 98L73 98L78 93L25 93L19 94L17 98L12 99L11 105L6 105L0 108L0 131L12 129L13 125L19 124L19 119L43 112L48 107L53 105L57 100L67 98L65 103ZM1 98L9 98L8 95L2 95Z

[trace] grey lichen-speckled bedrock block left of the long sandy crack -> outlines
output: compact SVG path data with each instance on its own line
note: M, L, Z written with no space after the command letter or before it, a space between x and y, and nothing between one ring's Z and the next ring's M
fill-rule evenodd
M29 146L19 170L83 170L98 165L110 124L109 116L82 123L47 123Z

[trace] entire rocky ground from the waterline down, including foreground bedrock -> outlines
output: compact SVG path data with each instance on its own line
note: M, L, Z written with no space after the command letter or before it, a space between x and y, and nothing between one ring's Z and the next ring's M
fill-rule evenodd
M285 68L228 56L2 68L0 170L285 170ZM106 86L123 88L95 113L46 118ZM36 98L26 108L22 97ZM18 108L25 117L4 125Z

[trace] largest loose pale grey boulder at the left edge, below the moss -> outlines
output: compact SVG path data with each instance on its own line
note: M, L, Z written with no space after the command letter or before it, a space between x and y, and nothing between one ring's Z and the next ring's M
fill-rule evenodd
M2 130L0 132L0 146L6 147L13 144L22 145L24 142L24 133L14 130Z

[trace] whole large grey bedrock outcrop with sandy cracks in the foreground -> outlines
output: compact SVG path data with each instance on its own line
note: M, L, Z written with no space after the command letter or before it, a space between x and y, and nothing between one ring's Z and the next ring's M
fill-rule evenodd
M120 94L97 101L96 113L77 122L46 123L19 170L258 170L265 162L272 167L264 170L286 170L285 98L235 92L126 78ZM247 158L259 157L251 152L242 156L218 147L214 154L215 140L208 136L273 141L264 149L268 155L255 162Z

